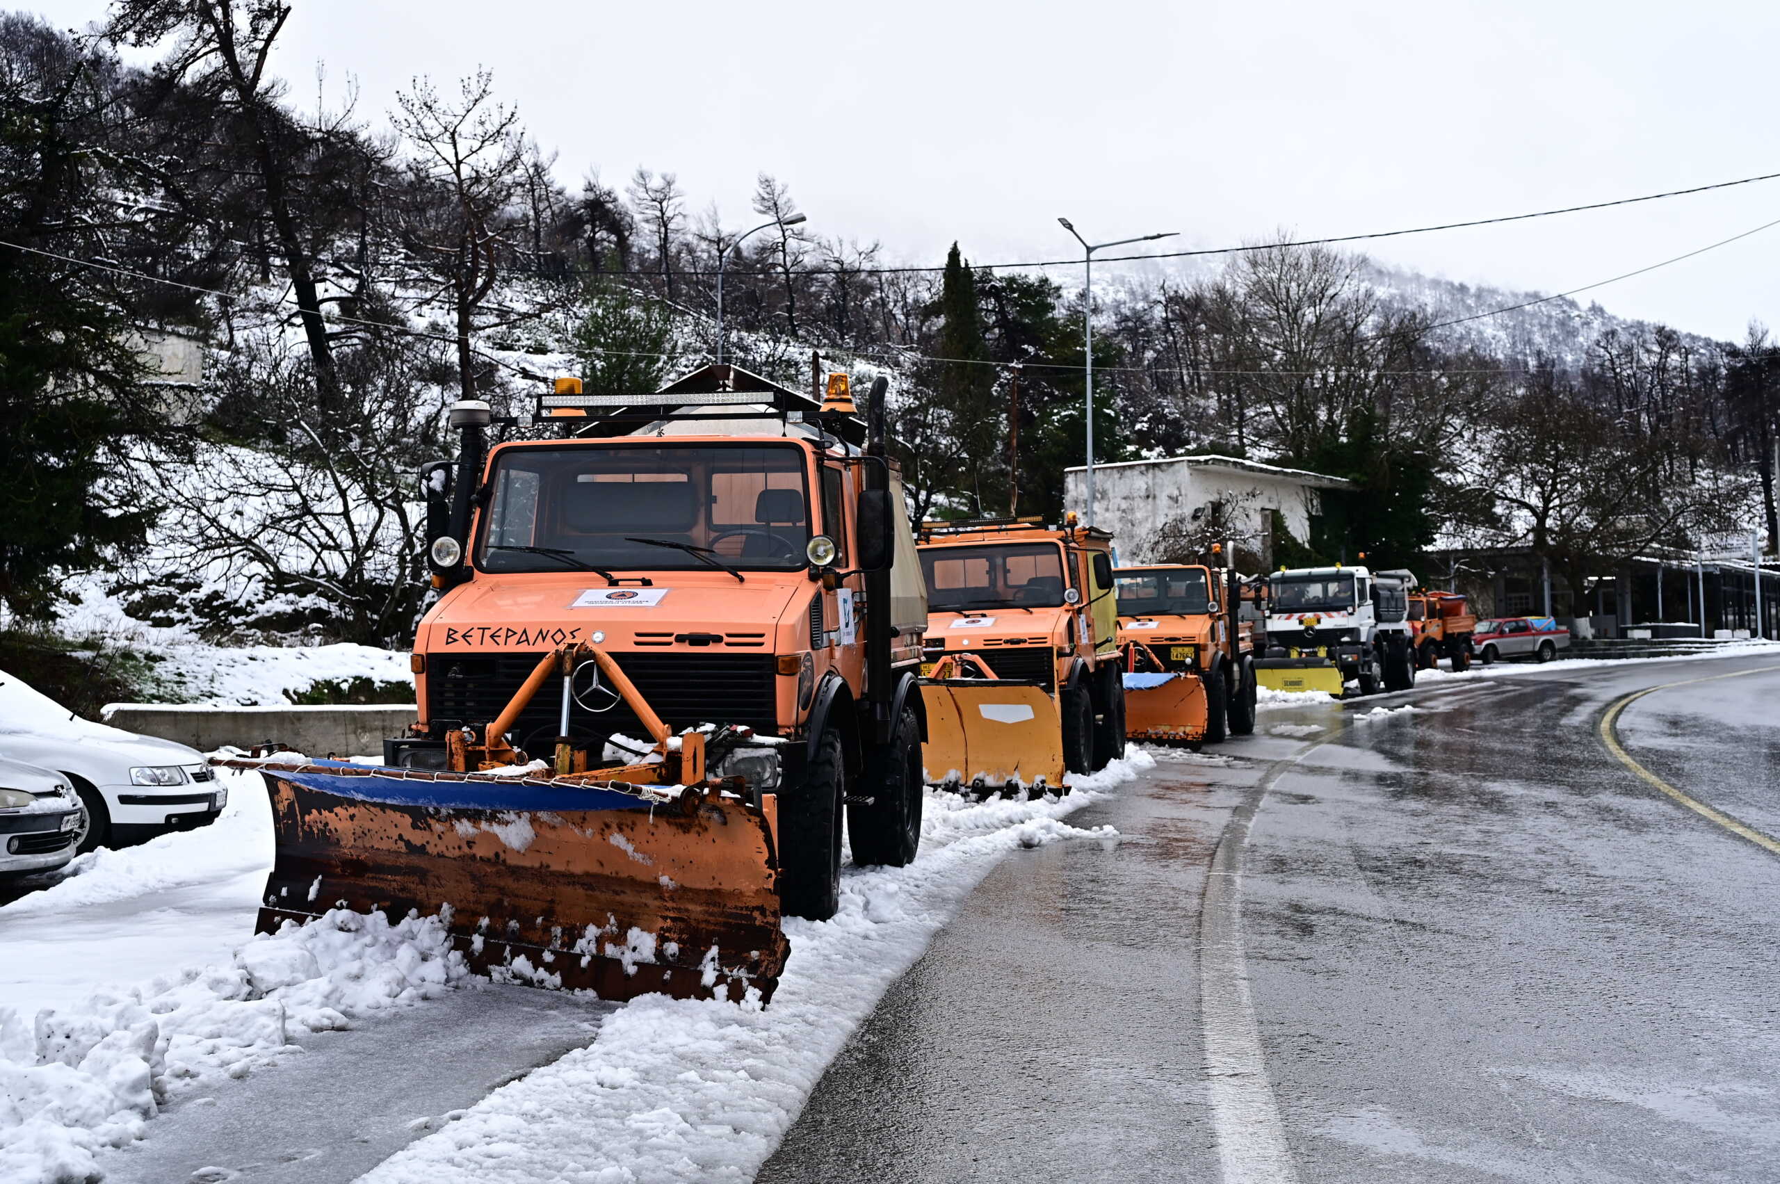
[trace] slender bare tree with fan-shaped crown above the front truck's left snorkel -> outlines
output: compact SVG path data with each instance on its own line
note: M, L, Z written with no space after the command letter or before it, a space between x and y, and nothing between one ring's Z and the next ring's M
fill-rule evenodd
M493 100L493 77L481 69L445 100L427 78L399 94L395 126L411 146L409 162L422 199L406 224L406 240L449 296L457 338L457 383L475 399L475 351L470 335L477 310L500 278L514 231L511 208L525 183L525 141L520 118Z

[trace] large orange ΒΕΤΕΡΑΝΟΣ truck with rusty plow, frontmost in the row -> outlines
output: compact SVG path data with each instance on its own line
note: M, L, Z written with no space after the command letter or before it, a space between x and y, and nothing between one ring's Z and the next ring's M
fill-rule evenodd
M258 762L260 929L417 910L497 977L769 999L781 913L838 906L842 826L858 864L920 842L926 596L883 379L862 420L844 377L454 404L420 718L383 767Z

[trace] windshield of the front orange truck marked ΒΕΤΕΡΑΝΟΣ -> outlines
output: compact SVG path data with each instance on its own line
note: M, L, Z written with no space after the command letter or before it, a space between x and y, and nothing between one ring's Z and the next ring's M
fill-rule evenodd
M744 570L808 564L805 458L796 447L509 449L497 454L490 484L482 572L708 570L675 545L707 548Z

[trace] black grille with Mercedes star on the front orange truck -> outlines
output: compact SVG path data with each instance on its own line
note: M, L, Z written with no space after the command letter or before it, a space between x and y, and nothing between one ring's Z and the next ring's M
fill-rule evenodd
M612 657L669 728L740 723L756 732L778 732L778 684L771 653L650 652ZM491 723L539 659L543 653L429 653L427 719L434 725ZM596 691L582 698L598 705L607 694ZM555 737L561 709L562 680L552 677L520 712L514 742L538 746ZM598 714L571 703L568 718L571 732L646 737L623 701Z

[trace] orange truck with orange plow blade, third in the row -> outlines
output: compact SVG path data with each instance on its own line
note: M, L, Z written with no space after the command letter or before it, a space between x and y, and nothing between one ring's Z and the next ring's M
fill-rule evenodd
M1221 552L1221 548L1219 548ZM1118 568L1125 735L1198 748L1255 730L1253 625L1235 572L1200 564Z

